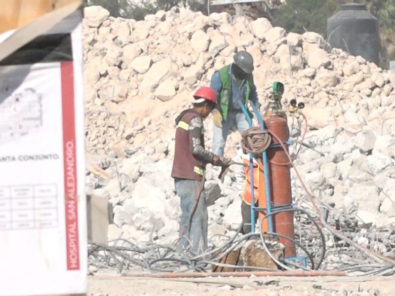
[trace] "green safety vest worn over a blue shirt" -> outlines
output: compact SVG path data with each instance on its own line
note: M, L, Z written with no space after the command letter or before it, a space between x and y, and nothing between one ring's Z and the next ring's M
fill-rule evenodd
M225 121L228 116L229 100L232 99L232 74L229 74L229 68L231 66L225 66L218 70L221 78L222 88L219 94L219 111L221 112L222 118ZM254 85L254 79L252 74L247 75L247 83L245 85L245 100L244 106L247 108L250 97L251 87Z

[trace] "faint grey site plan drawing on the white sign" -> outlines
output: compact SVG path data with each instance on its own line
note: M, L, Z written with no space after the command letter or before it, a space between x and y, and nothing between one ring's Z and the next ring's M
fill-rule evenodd
M5 86L0 95L0 145L24 136L42 125L41 94L33 88L15 90L7 96Z

